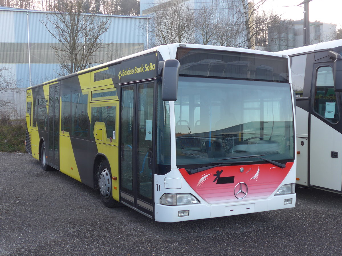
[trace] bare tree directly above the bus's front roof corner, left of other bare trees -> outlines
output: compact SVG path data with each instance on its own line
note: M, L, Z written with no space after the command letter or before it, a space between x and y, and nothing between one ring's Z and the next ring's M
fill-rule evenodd
M194 12L181 0L171 0L150 8L150 22L142 28L154 45L195 43Z

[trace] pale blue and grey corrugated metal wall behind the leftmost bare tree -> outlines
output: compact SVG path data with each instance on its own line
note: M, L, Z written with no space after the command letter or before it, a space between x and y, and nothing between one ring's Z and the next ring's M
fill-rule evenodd
M28 87L57 77L56 54L51 46L60 44L47 31L41 20L54 15L42 11L0 7L0 67L11 68L20 80L18 87ZM103 43L110 45L102 49L96 61L107 62L146 48L147 36L141 29L146 17L98 15L109 17L110 26L102 35ZM51 27L51 29L53 29Z

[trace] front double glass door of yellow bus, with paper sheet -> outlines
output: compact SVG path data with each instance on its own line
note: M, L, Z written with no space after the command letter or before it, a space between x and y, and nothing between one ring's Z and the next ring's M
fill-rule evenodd
M121 87L121 201L152 216L154 82Z

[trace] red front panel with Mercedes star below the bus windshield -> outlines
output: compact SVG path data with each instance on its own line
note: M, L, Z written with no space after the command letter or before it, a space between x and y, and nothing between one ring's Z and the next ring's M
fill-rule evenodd
M179 170L185 181L202 199L214 204L267 198L275 193L277 187L291 170L292 165L293 162L289 162L284 169L270 163L220 166L194 174L188 174L185 169ZM237 188L235 187L240 182L248 186L248 193L243 199L237 198L243 197L243 193L235 196L240 185ZM242 190L245 193L245 185L242 185L244 186Z

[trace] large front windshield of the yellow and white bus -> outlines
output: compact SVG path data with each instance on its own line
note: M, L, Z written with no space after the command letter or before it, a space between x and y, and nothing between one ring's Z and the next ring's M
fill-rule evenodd
M247 158L252 155L293 160L290 94L288 83L180 77L174 102L177 167L261 161Z

